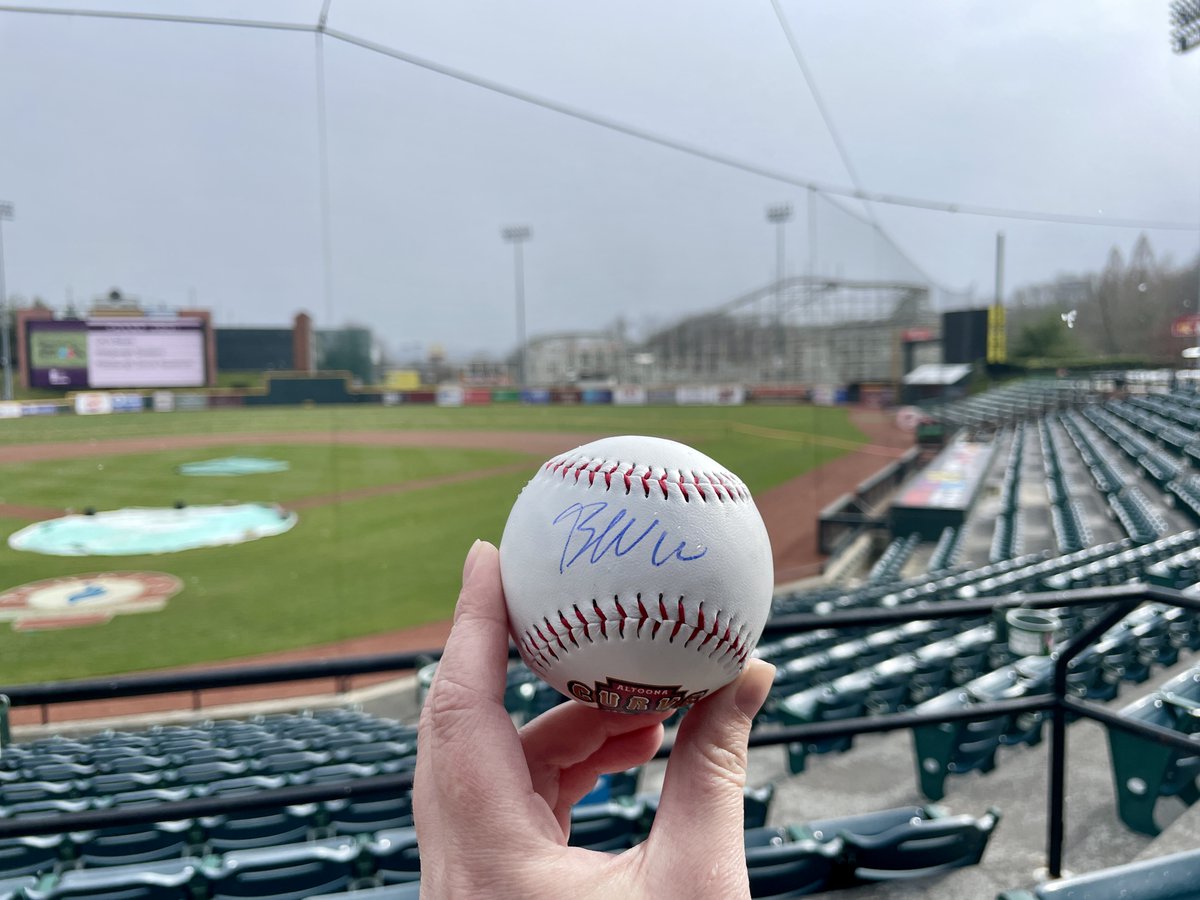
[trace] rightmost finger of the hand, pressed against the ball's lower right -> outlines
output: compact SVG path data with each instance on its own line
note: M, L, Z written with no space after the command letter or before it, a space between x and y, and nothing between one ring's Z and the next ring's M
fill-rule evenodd
M652 838L671 853L706 858L731 847L745 866L742 828L750 722L767 700L775 667L751 660L736 682L683 718L654 817ZM728 845L728 846L726 846Z

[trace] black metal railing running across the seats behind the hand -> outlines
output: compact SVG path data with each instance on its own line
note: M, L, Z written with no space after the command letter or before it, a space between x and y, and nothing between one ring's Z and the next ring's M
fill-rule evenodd
M1150 722L1122 718L1094 702L1081 701L1068 694L1067 674L1070 661L1145 601L1163 602L1200 611L1200 596L1184 594L1170 588L1134 582L1108 588L1014 594L1002 598L982 598L979 600L918 602L890 608L842 610L827 616L799 613L778 617L768 624L764 636L796 634L815 629L852 629L868 625L887 625L920 619L971 618L1018 607L1110 606L1103 616L1058 648L1050 694L974 703L961 709L938 713L892 713L881 716L860 716L838 721L761 728L751 732L750 746L772 746L793 742L852 737L854 734L898 731L922 725L938 725L948 721L978 720L1049 710L1051 713L1051 737L1049 742L1050 761L1046 798L1046 870L1051 878L1061 877L1068 714L1092 719L1102 725L1117 727L1182 750L1195 751L1200 746L1196 740L1189 737ZM236 666L210 672L120 676L79 682L49 682L0 688L0 695L7 695L13 707L80 700L110 700L113 697L143 694L170 694L203 690L206 688L245 686L247 684L268 684L412 670L424 661L437 659L439 655L440 650L427 650L341 660ZM670 752L671 744L664 744L658 754L655 754L655 758L665 758ZM210 796L164 802L154 806L65 812L50 816L20 817L11 821L0 820L0 840L22 835L56 834L92 828L193 818L241 810L277 809L293 804L356 797L376 791L396 791L398 793L409 791L412 781L412 772L401 772L325 785L296 785L264 791L257 794Z

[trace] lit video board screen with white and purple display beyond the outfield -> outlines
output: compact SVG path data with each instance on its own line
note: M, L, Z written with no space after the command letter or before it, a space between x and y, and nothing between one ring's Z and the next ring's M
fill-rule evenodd
M26 334L35 388L199 388L206 380L198 318L35 320Z

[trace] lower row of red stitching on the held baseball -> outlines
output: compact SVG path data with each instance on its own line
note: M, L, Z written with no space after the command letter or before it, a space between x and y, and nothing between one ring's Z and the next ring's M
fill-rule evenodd
M691 632L686 635L683 641L684 647L690 647L694 641L697 641L703 636L702 641L698 641L694 649L698 653L704 650L706 647L712 643L712 649L708 650L708 659L715 660L721 665L728 666L733 662L738 668L745 666L746 658L754 649L749 641L745 641L745 635L742 634L739 628L737 631L733 630L733 622L728 620L725 623L725 632L721 634L721 613L718 611L713 614L713 623L710 628L706 628L704 618L704 604L701 602L696 608L695 620L688 619L688 610L684 607L683 598L678 600L678 608L671 610L667 605L666 595L659 594L656 616L652 614L646 608L646 604L642 602L642 595L637 595L637 612L626 612L625 607L620 604L619 596L613 596L612 602L614 607L614 616L605 614L605 611L600 608L599 600L592 600L592 611L596 614L596 620L592 622L587 618L583 610L580 608L578 604L574 604L566 610L558 610L552 613L552 616L558 617L558 623L565 629L566 638L575 647L581 647L582 644L576 640L576 631L580 625L571 625L569 616L575 614L575 618L583 626L583 638L588 643L596 643L599 641L608 640L608 626L616 625L617 632L622 640L625 637L625 625L629 623L636 623L637 630L634 634L634 638L637 640L642 636L642 628L646 624L650 625L649 638L653 641L664 625L671 628L671 634L667 637L667 643L674 643L676 637L680 636L685 629L690 628ZM676 606L676 604L671 604ZM652 610L654 608L652 604ZM542 631L542 625L546 626L546 631ZM593 637L593 629L599 630L599 636ZM546 636L550 634L550 637ZM715 641L715 643L714 643ZM551 622L551 616L542 618L541 623L534 624L532 628L527 629L520 640L521 649L524 652L523 655L526 661L530 666L539 670L540 672L548 672L554 662L562 660L570 648L563 641L563 637L558 634L558 629ZM557 650L554 649L557 646ZM724 648L724 649L722 649ZM553 660L553 662L551 661Z

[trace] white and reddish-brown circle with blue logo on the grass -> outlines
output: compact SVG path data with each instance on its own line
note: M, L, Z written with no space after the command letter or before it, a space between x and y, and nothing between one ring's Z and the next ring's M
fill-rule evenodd
M157 612L184 588L166 572L97 572L48 578L0 593L0 622L14 631L103 625L114 616Z

